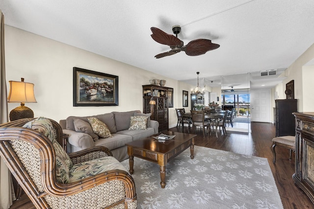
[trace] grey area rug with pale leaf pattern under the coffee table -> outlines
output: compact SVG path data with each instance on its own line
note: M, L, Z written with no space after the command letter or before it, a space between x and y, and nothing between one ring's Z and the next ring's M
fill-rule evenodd
M168 162L165 188L156 163L133 168L139 209L283 209L266 158L195 146L194 159L187 149Z

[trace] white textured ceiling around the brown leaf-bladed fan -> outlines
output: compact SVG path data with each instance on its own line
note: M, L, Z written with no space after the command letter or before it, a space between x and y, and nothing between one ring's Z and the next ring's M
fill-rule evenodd
M6 25L177 80L195 83L198 71L209 85L287 68L314 43L314 0L0 0L0 9ZM172 34L174 25L184 44L206 38L220 48L156 59L170 48L150 28Z

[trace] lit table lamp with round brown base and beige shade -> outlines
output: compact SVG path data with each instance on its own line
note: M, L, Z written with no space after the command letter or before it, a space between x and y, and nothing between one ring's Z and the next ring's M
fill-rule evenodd
M33 110L25 106L25 103L37 103L34 96L34 84L24 82L24 78L21 78L21 81L10 80L9 83L10 92L8 103L21 103L21 106L11 110L9 115L10 121L22 118L33 118Z

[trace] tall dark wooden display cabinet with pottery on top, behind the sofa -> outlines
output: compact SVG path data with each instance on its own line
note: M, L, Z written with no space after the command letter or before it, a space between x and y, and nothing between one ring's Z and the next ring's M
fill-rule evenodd
M152 113L151 120L158 121L158 131L169 129L168 87L143 85L143 113ZM150 104L154 100L156 104Z

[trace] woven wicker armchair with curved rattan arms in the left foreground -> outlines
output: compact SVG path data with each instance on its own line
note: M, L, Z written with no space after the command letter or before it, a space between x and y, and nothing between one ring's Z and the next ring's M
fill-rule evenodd
M60 150L56 146L61 147L57 142L62 141L62 130L57 122L51 119L46 121L50 121L54 128L55 141L38 130L23 128L32 123L33 118L0 125L0 156L36 208L137 207L133 178L122 168L121 163L110 157L112 154L105 147L93 147L71 153L68 157L73 167L82 163L83 166L78 168L81 173L86 167L87 170L93 168L93 162L107 158L111 160L111 169L104 171L102 167L99 172L94 167L88 170L88 176L76 173L73 175L76 178L79 176L79 180L60 183L56 177L57 171L60 171L57 163ZM103 161L99 165L103 166Z

